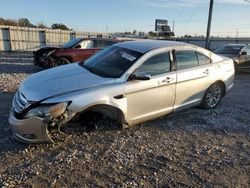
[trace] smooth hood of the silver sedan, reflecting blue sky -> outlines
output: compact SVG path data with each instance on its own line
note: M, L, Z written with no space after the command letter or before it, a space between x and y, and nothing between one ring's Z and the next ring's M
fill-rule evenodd
M114 81L114 78L99 77L78 63L72 63L29 76L21 84L19 91L28 101L41 101L56 95L111 84Z

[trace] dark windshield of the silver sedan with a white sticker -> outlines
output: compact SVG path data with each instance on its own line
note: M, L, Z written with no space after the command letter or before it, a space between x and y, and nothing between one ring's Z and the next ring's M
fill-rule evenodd
M81 65L101 77L119 78L141 56L140 52L111 46L92 56Z

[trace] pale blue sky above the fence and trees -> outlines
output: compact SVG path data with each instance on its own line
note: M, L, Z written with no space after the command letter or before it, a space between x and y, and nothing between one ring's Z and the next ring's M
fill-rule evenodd
M5 19L93 32L154 31L166 19L176 36L205 36L208 9L209 0L0 0ZM250 37L250 0L214 0L211 35Z

